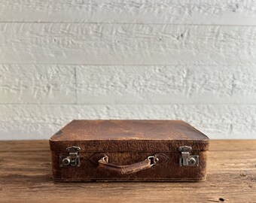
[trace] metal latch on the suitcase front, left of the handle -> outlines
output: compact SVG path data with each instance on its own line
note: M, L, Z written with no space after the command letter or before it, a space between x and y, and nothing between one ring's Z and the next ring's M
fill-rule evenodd
M79 166L80 165L80 157L78 152L81 150L80 147L68 147L66 150L69 152L69 156L59 156L59 166Z

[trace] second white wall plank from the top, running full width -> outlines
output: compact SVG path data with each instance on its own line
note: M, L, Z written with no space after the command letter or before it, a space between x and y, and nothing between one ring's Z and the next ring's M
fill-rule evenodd
M0 63L254 65L255 26L0 23Z

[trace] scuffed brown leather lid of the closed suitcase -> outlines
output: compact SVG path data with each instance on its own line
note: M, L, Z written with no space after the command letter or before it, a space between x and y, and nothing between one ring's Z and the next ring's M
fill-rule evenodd
M208 150L209 138L181 120L73 120L50 138L50 149L81 152L159 151L178 152L178 147Z

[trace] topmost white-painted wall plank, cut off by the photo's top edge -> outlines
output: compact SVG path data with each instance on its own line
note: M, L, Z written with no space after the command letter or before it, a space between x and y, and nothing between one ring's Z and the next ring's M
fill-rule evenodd
M256 25L254 0L8 0L0 22Z

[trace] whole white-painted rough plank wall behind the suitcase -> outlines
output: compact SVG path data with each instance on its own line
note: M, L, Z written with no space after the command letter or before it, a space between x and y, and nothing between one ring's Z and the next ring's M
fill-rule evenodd
M256 138L256 1L0 0L0 140L73 119Z

